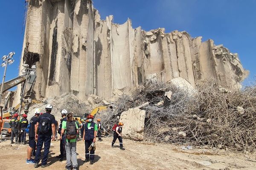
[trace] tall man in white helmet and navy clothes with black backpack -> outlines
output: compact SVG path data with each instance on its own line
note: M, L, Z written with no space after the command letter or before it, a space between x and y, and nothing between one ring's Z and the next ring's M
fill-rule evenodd
M41 158L41 150L44 144L44 156L42 159L41 167L47 167L47 158L49 155L49 149L51 144L51 136L52 141L55 139L55 117L51 114L52 105L47 105L45 107L46 113L43 113L38 117L38 122L35 126L35 140L37 140L37 150L35 153L35 164L34 167L37 168L40 158Z

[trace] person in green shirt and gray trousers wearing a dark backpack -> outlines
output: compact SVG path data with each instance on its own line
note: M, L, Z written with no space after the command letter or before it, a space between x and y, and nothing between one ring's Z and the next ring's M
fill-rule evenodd
M61 127L61 137L66 136L65 147L66 147L66 157L67 165L66 170L70 170L71 166L73 170L77 170L78 163L76 157L76 134L79 133L76 121L72 120L72 113L67 114L67 121L62 122ZM72 161L71 161L72 160Z

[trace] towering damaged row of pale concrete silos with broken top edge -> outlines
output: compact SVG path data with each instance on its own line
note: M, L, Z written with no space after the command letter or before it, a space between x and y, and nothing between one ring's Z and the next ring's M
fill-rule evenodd
M114 89L176 77L193 87L213 78L239 88L248 75L238 54L212 40L164 28L134 29L131 20L119 25L113 16L101 20L91 0L29 0L20 69L23 62L38 65L38 99L66 92L80 99L111 97Z

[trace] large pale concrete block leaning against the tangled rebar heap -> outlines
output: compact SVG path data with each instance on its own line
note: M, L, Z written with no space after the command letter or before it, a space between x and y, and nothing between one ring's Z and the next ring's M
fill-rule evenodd
M145 111L135 108L122 112L119 121L124 123L122 129L123 138L143 141L145 113Z

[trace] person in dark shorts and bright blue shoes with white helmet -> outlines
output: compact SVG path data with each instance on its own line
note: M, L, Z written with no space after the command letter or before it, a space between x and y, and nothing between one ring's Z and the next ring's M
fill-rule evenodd
M41 109L36 108L35 109L35 116L33 116L29 121L29 147L27 149L27 160L26 164L35 164L34 159L31 159L31 155L33 152L33 156L35 156L35 125L38 122L38 116L41 113Z

